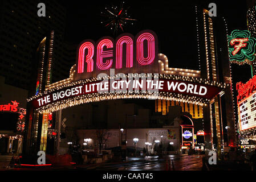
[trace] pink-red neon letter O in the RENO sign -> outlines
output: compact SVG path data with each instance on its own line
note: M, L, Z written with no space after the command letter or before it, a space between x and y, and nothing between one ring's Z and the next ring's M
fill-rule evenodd
M148 42L148 54L144 57L144 40ZM155 37L152 34L144 33L137 39L137 61L140 65L149 65L155 59Z

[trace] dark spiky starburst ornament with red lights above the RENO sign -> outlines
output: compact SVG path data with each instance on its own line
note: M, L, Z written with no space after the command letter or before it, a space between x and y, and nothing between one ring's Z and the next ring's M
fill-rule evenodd
M121 30L124 31L124 27L129 24L133 24L136 19L132 19L131 16L127 14L128 8L123 7L124 2L121 2L119 8L117 6L112 6L110 8L105 7L105 11L101 12L101 15L104 16L104 20L101 21L105 27L110 28L113 31L113 35Z

